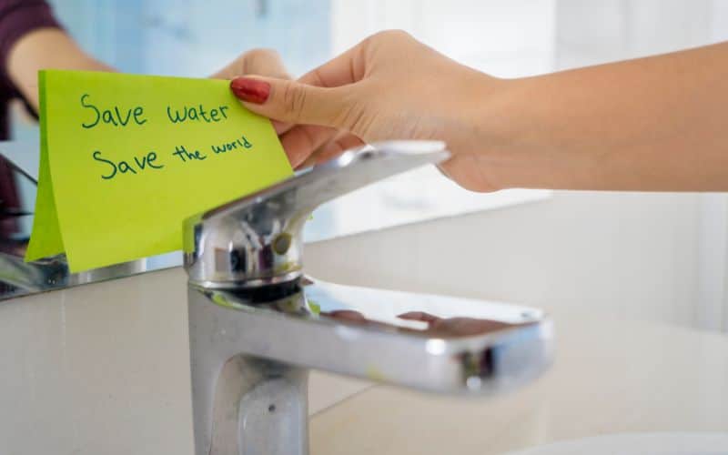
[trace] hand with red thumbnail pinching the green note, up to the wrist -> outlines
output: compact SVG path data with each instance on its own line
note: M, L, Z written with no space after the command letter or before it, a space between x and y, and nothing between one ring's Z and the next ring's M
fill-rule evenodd
M505 81L461 66L410 35L373 35L298 81L239 77L233 92L251 111L286 122L281 142L294 167L386 139L444 140L440 168L461 186L498 189L480 163L486 147L479 100Z

